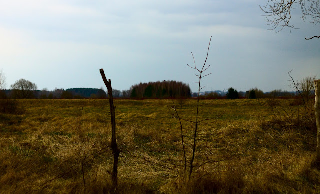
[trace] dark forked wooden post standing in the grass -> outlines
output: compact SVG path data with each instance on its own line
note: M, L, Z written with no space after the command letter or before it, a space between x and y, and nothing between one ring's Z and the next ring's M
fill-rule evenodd
M118 158L120 154L120 150L118 149L117 141L116 141L116 106L113 105L113 97L112 97L112 87L111 80L107 81L105 73L103 69L100 69L100 74L103 82L107 86L108 95L109 95L109 105L110 105L110 114L111 114L111 126L112 126L112 137L111 137L111 148L113 154L113 168L111 174L112 181L112 189L116 189L118 183Z

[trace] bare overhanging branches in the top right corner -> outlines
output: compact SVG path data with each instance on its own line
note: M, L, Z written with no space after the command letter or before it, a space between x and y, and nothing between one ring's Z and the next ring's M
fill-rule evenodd
M302 19L311 18L311 23L317 24L320 20L320 6L319 0L268 0L264 8L261 8L266 13L266 21L270 25L271 30L276 32L284 28L295 29L294 24L291 23L292 10L300 8L302 12ZM320 38L320 36L313 36L311 38Z

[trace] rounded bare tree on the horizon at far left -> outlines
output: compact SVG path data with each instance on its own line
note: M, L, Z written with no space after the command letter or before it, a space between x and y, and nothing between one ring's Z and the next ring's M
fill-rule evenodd
M33 91L37 89L37 85L25 79L19 79L14 84L10 85L12 91L12 97L24 99L33 98Z

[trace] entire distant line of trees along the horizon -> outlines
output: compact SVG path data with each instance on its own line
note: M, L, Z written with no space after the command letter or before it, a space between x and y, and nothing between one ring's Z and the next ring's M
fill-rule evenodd
M4 89L5 77L0 71L0 99L14 98L14 99L82 99L82 98L107 98L108 94L101 87L97 88L71 88L71 89L57 89L48 91L47 88L37 90L37 85L25 79L19 79L14 84L10 85L10 89ZM314 89L312 86L313 79L303 79L301 81L302 95L305 99L309 99L314 95ZM197 96L197 93L192 93L188 84L179 81L157 81L149 83L139 83L132 85L128 90L113 89L114 98L133 98L133 99L145 99L145 98L190 98ZM259 98L282 98L289 99L298 97L297 91L282 91L279 89L263 92L258 88L252 88L246 92L237 91L233 87L230 87L227 91L206 91L201 92L200 97L202 99L259 99Z

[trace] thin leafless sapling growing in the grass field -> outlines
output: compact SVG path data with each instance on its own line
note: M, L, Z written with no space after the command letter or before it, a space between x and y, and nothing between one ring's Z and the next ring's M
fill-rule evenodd
M200 113L204 111L204 107L200 105L200 91L204 88L201 86L201 81L204 77L212 74L207 73L206 71L210 67L207 65L207 58L210 48L210 42L208 46L207 56L205 58L205 62L202 66L197 66L195 63L195 59L193 57L194 65L188 66L194 69L198 77L198 91L197 91L197 105L195 110L195 115L193 118L183 118L179 111L176 108L174 100L172 98L172 105L168 105L168 109L171 111L171 115L178 119L180 125L180 137L181 137L181 146L182 146L182 159L178 160L175 163L175 167L178 169L182 169L182 171L178 171L179 175L184 180L184 185L187 186L190 183L190 180L194 178L193 174L197 174L198 178L201 178L205 175L212 173L213 169L217 165L218 162L227 160L231 158L236 151L225 150L217 151L213 147L213 144L218 140L223 139L226 135L222 132L212 132L207 133L205 129L205 125L210 125L213 123L213 117L202 117ZM172 97L172 96L171 96ZM215 130L215 129L213 129ZM227 151L226 151L227 150ZM233 153L232 153L233 152ZM218 154L217 154L218 153ZM209 171L204 171L205 166L210 166Z

